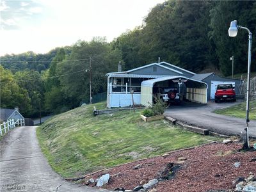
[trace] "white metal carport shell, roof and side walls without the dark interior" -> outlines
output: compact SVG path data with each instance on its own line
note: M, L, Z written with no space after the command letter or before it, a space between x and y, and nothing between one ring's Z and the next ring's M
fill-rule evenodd
M141 83L141 104L143 106L150 106L153 102L153 88L157 83L162 84L175 84L177 81L183 81L186 86L186 99L191 102L198 102L207 104L207 84L202 81L196 81L195 79L189 79L183 76L166 76L156 79L150 79L142 81ZM175 83L176 82L176 83Z

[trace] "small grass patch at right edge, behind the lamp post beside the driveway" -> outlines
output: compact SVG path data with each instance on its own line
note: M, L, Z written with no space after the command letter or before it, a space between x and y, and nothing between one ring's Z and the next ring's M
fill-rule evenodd
M218 113L221 115L228 115L228 116L236 116L239 118L245 118L246 102L243 102L236 106L232 106L230 108L218 109L218 110L214 111L214 113ZM250 101L249 115L250 115L251 120L256 120L256 100Z

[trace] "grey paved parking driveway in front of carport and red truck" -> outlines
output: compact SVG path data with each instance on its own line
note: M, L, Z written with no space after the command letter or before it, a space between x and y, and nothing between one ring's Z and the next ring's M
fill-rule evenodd
M241 135L241 131L245 134L246 128L245 116L243 118L235 118L231 116L218 115L212 111L238 104L237 102L221 102L215 103L210 101L207 105L196 104L192 102L184 102L180 106L170 106L166 109L164 115L171 116L181 122L189 125L195 125L227 135ZM249 135L256 138L256 121L251 120L249 124Z

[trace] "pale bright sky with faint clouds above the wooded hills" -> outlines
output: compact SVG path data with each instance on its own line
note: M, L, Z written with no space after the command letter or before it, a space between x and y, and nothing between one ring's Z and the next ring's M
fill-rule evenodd
M0 0L0 56L45 53L77 40L108 42L143 24L164 0Z

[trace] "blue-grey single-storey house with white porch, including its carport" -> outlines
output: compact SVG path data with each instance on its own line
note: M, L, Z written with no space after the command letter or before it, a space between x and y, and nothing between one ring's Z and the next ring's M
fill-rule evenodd
M119 64L118 72L106 76L108 108L131 106L132 97L134 104L149 106L153 96L164 88L179 89L182 99L207 104L207 100L214 99L212 93L215 93L217 84L228 82L237 86L240 83L240 80L218 77L214 73L195 74L164 61L124 72Z

